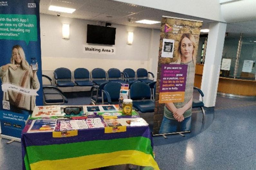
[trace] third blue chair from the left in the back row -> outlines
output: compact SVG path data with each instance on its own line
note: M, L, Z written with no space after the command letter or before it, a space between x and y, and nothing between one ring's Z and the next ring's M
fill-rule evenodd
M106 79L106 72L102 68L95 68L91 71L91 80L96 85L109 82Z

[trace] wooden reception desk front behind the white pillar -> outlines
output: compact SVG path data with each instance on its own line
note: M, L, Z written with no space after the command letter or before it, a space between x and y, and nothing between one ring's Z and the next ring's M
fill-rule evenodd
M194 87L201 88L203 64L196 64ZM256 97L256 81L246 79L234 79L232 77L220 77L218 93L235 97Z

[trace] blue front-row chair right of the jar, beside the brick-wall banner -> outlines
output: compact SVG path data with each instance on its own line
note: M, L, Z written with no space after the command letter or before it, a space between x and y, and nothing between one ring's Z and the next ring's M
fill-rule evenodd
M130 88L130 99L133 107L141 113L151 113L155 110L155 102L150 100L150 87L145 82L135 82Z

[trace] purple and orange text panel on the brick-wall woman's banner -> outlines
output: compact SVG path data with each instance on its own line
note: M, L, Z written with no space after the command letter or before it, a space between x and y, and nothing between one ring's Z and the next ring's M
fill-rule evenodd
M162 64L159 103L184 102L187 64Z

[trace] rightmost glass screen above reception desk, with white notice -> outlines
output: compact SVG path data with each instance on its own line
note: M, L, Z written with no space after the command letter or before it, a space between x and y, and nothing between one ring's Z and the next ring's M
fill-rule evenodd
M236 77L255 80L256 36L243 34L240 51Z

